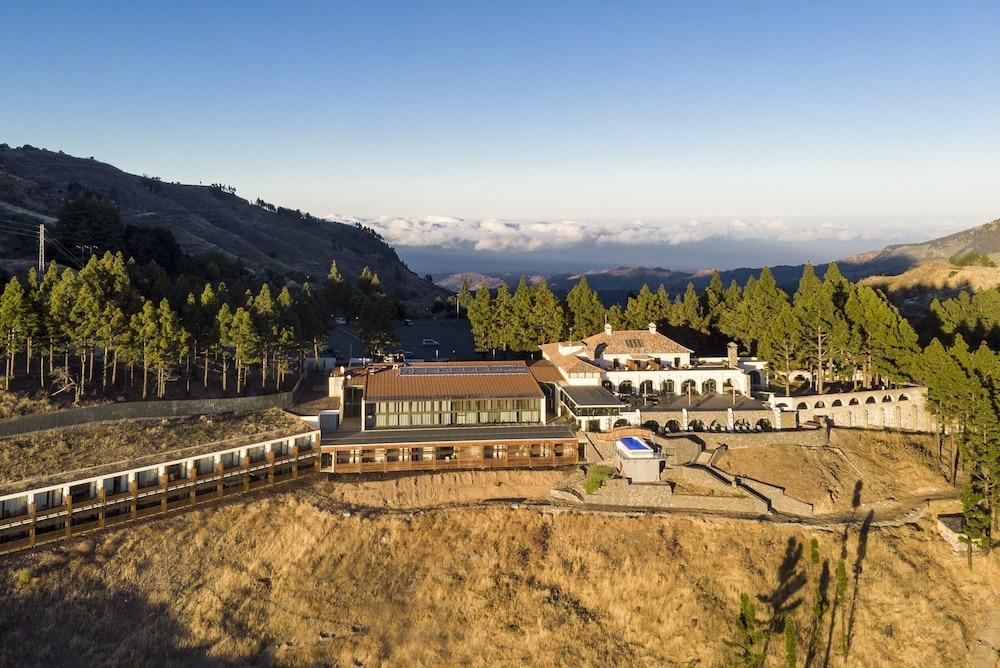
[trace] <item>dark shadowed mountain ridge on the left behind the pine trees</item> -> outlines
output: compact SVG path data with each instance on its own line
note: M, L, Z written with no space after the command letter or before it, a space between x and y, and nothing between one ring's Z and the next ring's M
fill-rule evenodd
M85 192L111 200L125 224L170 230L187 253L216 251L249 268L271 266L311 277L325 277L336 260L349 277L370 266L404 301L429 302L444 294L363 226L251 203L225 187L166 183L93 158L0 145L0 218L51 218L65 201Z

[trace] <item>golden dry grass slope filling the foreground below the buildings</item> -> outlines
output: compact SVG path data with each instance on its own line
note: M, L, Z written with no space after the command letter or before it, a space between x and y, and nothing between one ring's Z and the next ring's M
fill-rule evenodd
M507 505L345 516L329 502L338 484L0 562L0 665L717 666L740 592L765 621L797 620L799 665L811 637L815 666L827 647L832 666L963 665L1000 602L997 562L968 573L929 524L855 526L843 543L839 530ZM851 573L841 603L826 578L835 607L816 632L813 538L830 568L846 549ZM782 647L775 636L771 665Z

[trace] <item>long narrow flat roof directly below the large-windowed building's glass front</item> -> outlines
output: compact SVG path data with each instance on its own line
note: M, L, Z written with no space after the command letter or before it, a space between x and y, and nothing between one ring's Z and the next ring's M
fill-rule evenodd
M435 443L576 440L576 432L562 425L491 425L430 429L372 429L324 436L323 447L358 445L433 445Z

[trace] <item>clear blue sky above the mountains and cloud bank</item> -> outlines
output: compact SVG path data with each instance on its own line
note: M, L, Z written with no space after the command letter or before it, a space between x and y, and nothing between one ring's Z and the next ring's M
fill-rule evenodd
M320 215L1000 215L996 0L18 2L0 25L0 141Z

